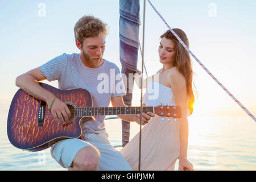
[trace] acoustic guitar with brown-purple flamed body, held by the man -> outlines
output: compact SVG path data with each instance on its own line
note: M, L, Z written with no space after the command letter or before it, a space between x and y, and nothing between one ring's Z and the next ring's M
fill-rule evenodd
M65 124L56 121L46 102L19 89L10 105L7 134L11 144L22 150L40 151L59 140L80 138L84 123L100 115L141 113L141 107L93 107L92 96L85 89L60 90L44 83L40 85L67 104L71 117ZM179 106L143 107L142 111L180 118Z

